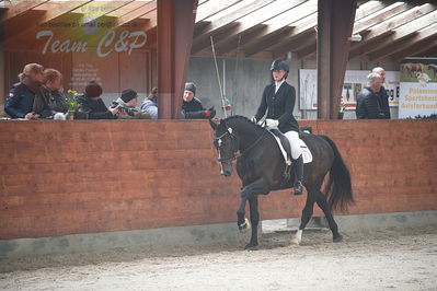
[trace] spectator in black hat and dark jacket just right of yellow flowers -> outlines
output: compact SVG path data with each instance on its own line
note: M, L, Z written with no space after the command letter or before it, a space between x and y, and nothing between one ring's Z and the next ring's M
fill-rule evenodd
M87 119L117 119L120 110L119 106L107 108L103 100L102 88L91 81L85 86L85 93L78 96L79 112L87 115Z

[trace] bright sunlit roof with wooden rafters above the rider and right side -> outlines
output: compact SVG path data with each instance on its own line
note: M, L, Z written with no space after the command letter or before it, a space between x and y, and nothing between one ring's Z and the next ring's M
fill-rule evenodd
M358 1L350 60L437 57L437 1ZM318 0L199 0L192 54L314 59Z

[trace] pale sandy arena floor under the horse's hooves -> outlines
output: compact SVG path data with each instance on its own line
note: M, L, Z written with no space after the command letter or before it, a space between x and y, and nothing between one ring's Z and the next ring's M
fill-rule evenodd
M264 234L260 249L215 245L0 260L0 290L437 290L437 226Z

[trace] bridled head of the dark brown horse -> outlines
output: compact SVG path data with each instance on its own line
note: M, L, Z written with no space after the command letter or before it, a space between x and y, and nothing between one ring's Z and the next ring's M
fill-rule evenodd
M229 177L232 174L232 161L235 160L235 153L240 148L239 138L223 120L219 124L209 120L209 124L214 129L214 147L217 149L220 174Z

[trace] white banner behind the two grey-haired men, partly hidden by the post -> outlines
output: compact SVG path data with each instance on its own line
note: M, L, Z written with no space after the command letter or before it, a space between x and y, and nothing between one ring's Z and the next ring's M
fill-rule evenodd
M369 73L370 71L346 70L342 91L346 109L355 109L357 95L366 86ZM386 71L386 83L383 85L389 94L390 107L395 107L399 104L399 80L400 73L398 71ZM317 82L317 70L299 70L300 109L318 108Z

